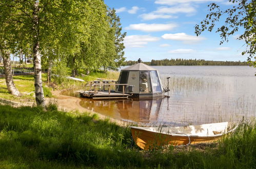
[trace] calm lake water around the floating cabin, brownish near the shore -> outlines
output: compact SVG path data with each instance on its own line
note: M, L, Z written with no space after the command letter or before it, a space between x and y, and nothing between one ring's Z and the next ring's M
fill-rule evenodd
M109 117L150 125L188 125L256 116L255 68L247 66L154 66L170 98L92 100L80 104ZM167 95L167 93L166 93Z

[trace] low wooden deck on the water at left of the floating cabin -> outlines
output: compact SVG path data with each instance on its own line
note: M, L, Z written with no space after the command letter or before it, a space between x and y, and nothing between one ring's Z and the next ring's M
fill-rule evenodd
M92 99L117 99L117 98L128 98L129 94L116 93L114 91L82 91L80 93L83 97Z

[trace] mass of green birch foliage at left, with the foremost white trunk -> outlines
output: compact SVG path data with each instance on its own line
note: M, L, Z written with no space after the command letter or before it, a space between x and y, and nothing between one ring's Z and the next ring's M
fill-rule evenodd
M45 68L61 66L61 76L67 68L73 76L116 69L124 60L120 18L102 0L2 0L0 23L0 49L33 56L37 105L45 104L41 60Z

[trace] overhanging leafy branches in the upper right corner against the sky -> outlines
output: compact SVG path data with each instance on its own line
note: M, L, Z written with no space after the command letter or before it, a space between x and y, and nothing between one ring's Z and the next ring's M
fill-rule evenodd
M208 5L209 14L199 24L195 25L195 34L198 36L203 31L212 31L215 24L226 17L225 23L217 28L216 32L220 33L222 40L228 41L228 37L239 30L244 31L239 37L239 40L244 40L247 48L242 52L242 55L248 55L248 62L252 62L256 67L256 1L254 0L229 0L233 4L232 8L222 10L219 5L212 3ZM253 61L254 60L254 61Z

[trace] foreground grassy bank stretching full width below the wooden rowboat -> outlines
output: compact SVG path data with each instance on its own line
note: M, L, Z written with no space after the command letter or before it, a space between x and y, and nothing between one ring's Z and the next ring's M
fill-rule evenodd
M96 115L0 105L1 168L253 168L256 125L218 144L141 151L129 128Z

